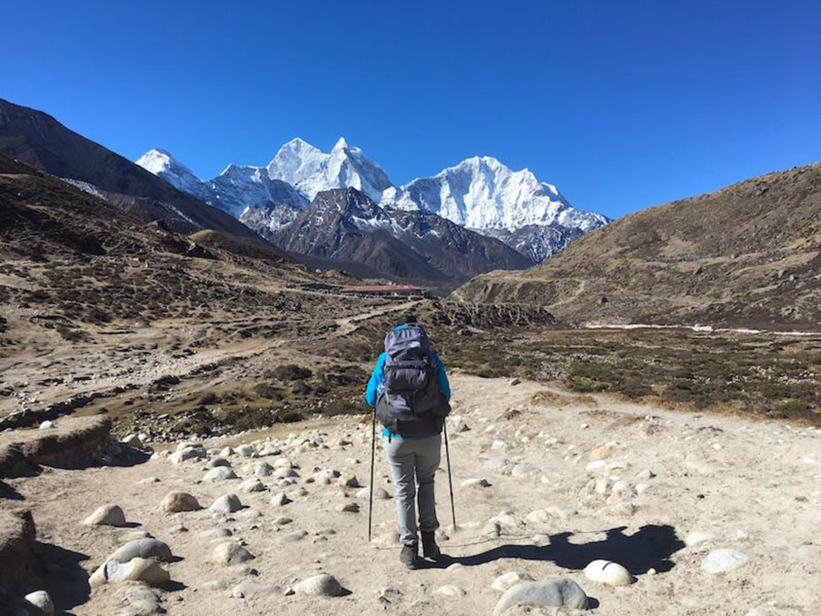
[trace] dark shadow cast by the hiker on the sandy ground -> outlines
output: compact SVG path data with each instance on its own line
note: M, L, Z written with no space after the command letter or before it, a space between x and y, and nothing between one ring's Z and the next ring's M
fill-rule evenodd
M498 559L552 561L566 569L583 569L596 559L612 560L633 575L654 568L667 572L673 568L670 556L684 547L672 526L648 524L632 535L625 535L626 526L605 531L606 538L588 543L571 543L571 532L550 536L549 545L500 545L473 556L445 556L439 566L460 563L467 567L490 563Z

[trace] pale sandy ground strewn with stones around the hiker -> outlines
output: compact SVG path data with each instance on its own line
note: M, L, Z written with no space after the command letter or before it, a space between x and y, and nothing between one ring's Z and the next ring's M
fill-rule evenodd
M47 469L10 480L25 498L19 504L34 511L40 552L48 560L38 564L43 586L67 613L127 613L122 587L111 584L89 594L85 576L128 533L147 531L177 557L168 565L173 583L161 591L168 614L490 614L502 594L491 584L509 571L536 580L575 580L593 599L594 614L821 614L821 430L636 406L544 384L513 386L507 379L456 374L452 389L452 414L470 430L457 432L451 424L455 531L444 452L437 476L438 515L447 536L440 540L447 554L443 563L413 572L401 566L399 548L390 544L396 531L392 499L374 502L377 540L369 545L368 500L356 498L360 489L305 482L315 470L336 469L368 485L371 426L346 417L268 433L282 454L259 460L273 464L287 457L299 477L282 487L263 477L265 492L237 492L252 475L246 465L259 461L238 455L230 462L241 479L217 483L201 481L204 461L177 466L163 455L133 467ZM317 434L323 445L300 445ZM230 441L256 439L245 434ZM604 467L587 470L591 452L605 444L610 454ZM491 468L498 458L507 462ZM532 468L511 473L515 464ZM642 479L643 471L654 476ZM160 481L140 483L149 476ZM463 487L470 478L490 485ZM630 485L621 503L610 494L615 480ZM635 494L640 483L646 489ZM392 494L379 448L374 485ZM206 509L160 513L158 503L171 490L194 494ZM293 502L271 505L278 491ZM227 519L214 517L207 507L229 492L237 492L246 508ZM625 500L635 506L633 513L626 512ZM350 501L360 503L359 513L337 512L337 504ZM83 526L80 521L103 503L120 505L134 527ZM540 522L525 520L544 508L548 514ZM282 516L292 522L275 522ZM492 518L498 526L488 524ZM179 531L180 525L187 531ZM244 543L255 559L232 567L214 563L218 542L202 533L215 528L232 531L232 540ZM307 534L291 541L301 531ZM709 532L713 539L686 546L692 531ZM703 572L704 557L722 547L741 549L749 562L732 572ZM612 588L589 581L582 569L599 558L623 564L635 582ZM350 594L285 595L289 586L318 572L337 577ZM266 587L236 598L233 590L241 582ZM465 594L439 591L449 585ZM386 595L389 603L379 598L386 587L399 591Z

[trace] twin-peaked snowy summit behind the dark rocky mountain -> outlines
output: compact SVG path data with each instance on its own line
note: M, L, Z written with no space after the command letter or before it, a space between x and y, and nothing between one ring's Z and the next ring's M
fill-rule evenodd
M309 200L320 191L355 188L376 201L393 184L388 174L359 148L351 148L344 137L326 154L296 138L283 145L268 163L268 177L295 186Z

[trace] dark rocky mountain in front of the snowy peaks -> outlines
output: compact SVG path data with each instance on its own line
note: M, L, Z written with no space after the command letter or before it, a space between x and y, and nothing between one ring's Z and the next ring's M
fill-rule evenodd
M245 214L246 223L254 224L253 214ZM254 228L282 250L359 275L452 288L490 269L530 265L501 241L435 214L383 209L353 188L319 193L292 223L273 231L267 220L263 214Z

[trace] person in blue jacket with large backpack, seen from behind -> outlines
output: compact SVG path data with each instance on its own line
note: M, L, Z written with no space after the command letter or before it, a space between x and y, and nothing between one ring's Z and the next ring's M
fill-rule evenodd
M450 412L451 388L445 367L429 346L415 315L404 315L385 337L385 351L370 376L365 399L383 424L385 454L396 486L402 544L399 560L418 565L414 497L418 492L419 528L424 558L438 560L433 475L439 467L442 428Z

